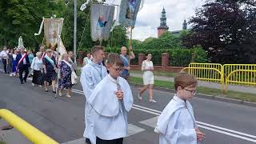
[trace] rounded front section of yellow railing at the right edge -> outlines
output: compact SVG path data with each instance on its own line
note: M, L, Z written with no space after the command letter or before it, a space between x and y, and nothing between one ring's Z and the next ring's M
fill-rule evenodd
M226 89L229 83L244 86L256 86L256 70L234 70L226 77Z

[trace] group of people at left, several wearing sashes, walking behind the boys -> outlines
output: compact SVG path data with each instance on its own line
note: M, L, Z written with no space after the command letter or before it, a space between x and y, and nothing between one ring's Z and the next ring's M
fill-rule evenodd
M45 50L41 46L35 55L26 50L25 47L7 49L6 46L0 53L0 59L5 74L20 79L20 83L26 83L27 77L32 77L32 86L44 86L48 92L48 86L52 86L52 92L56 94L56 82L58 81L59 96L66 89L66 97L70 98L71 87L76 83L72 82L71 74L77 69L72 51L62 54L59 58L54 47ZM72 60L73 59L73 60Z

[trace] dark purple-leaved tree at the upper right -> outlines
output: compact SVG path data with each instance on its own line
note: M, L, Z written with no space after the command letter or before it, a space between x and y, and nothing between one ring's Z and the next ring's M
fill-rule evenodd
M200 44L211 62L256 62L255 18L254 0L208 0L190 19L191 33L182 43Z

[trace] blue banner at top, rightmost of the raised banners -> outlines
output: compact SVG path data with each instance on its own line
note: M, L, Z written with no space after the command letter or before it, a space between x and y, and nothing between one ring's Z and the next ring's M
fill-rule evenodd
M119 23L122 26L135 26L141 0L122 0L120 4Z

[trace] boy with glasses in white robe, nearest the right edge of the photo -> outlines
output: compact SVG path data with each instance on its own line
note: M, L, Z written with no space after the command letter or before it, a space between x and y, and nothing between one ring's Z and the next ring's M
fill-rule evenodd
M159 144L196 144L205 138L194 119L190 100L196 94L197 79L181 73L174 78L176 94L158 118L155 132L159 134Z

